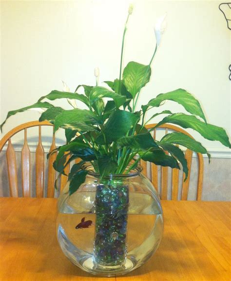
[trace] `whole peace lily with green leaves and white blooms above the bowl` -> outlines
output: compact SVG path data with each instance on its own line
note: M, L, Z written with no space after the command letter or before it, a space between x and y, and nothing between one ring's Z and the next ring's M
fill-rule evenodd
M122 71L124 39L132 10L133 7L130 6L123 33L118 79L105 81L108 87L98 86L99 71L96 69L96 86L79 85L75 92L70 92L68 86L63 83L63 92L53 90L48 95L42 96L35 104L9 111L7 114L6 119L18 112L38 108L42 112L39 121L47 120L54 124L55 131L59 128L65 130L66 144L51 153L58 151L54 168L60 174L64 173L64 168L71 161L81 159L68 175L70 195L85 181L87 171L82 170L81 166L86 161L92 163L101 178L109 174L128 174L137 166L140 159L143 159L156 165L177 169L180 169L181 164L186 179L187 160L183 151L175 145L205 153L209 158L210 154L201 143L182 132L168 133L158 141L154 140L152 130L166 123L196 130L208 140L219 141L224 146L231 147L226 131L207 123L200 103L187 90L179 88L161 93L152 98L148 104L136 108L140 91L150 80L151 64L160 45L166 15L160 17L155 25L156 45L149 65L129 62ZM84 89L84 94L78 93L80 87ZM111 100L105 102L104 98ZM45 99L50 101L67 99L72 109L64 110L44 101ZM170 110L154 112L147 122L157 115L164 115L164 118L154 128L147 130L145 128L147 111L161 107L167 100L182 105L189 114L173 113ZM78 108L80 102L88 109ZM1 124L1 129L5 121ZM169 153L166 154L165 151ZM68 161L67 157L70 157Z

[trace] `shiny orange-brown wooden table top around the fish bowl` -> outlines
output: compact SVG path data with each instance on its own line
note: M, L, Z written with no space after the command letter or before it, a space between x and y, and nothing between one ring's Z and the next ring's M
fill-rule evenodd
M162 201L164 236L130 274L96 277L72 264L56 238L57 199L0 198L0 281L230 281L231 203Z

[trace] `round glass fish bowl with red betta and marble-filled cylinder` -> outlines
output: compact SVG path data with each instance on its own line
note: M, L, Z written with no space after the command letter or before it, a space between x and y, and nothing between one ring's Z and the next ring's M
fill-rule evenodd
M57 237L68 259L101 276L126 274L157 250L163 234L160 200L137 167L100 180L90 164L86 180L58 198Z

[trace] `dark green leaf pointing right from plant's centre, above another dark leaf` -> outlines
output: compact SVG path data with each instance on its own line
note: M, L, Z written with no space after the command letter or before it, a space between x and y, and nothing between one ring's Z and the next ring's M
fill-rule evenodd
M142 149L148 150L150 148L159 149L158 145L155 143L150 132L140 133L134 136L122 137L118 140L118 145L128 146L132 149Z

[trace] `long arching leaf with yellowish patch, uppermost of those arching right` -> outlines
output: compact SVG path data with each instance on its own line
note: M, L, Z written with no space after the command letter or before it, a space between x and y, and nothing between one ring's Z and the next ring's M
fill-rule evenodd
M146 111L148 107L159 107L161 103L166 100L182 105L188 112L201 117L206 122L205 115L198 100L184 89L177 89L168 93L159 94L156 98L152 99L147 106L142 106L143 111Z

